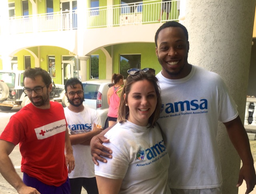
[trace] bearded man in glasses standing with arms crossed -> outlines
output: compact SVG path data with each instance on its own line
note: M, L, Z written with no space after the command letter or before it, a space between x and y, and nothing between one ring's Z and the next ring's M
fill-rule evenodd
M64 113L77 167L68 175L71 194L80 194L82 187L88 194L97 194L98 188L94 163L90 154L90 141L92 137L103 130L100 116L96 110L83 105L83 85L77 78L70 78L66 81L65 91L69 106L64 108Z

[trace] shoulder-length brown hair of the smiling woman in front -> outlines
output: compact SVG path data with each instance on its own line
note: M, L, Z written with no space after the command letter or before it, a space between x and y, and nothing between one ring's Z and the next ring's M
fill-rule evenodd
M161 100L161 90L158 85L158 79L155 75L149 72L140 71L138 75L129 75L124 83L124 87L122 90L122 95L120 98L120 104L118 109L118 122L123 123L126 121L128 114L129 114L129 107L126 106L127 97L130 93L130 89L133 83L141 80L147 80L150 83L154 85L154 89L156 90L156 96L157 96L157 102L156 102L156 109L152 113L152 115L148 119L148 127L154 128L156 125L156 121L160 117L160 110L162 106L162 100ZM126 94L126 97L124 99L124 94Z

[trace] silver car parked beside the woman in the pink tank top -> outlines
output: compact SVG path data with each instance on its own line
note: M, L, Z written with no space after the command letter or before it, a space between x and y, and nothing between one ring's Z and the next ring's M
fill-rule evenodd
M102 127L108 127L108 89L113 86L111 80L83 81L84 105L95 109L100 114Z

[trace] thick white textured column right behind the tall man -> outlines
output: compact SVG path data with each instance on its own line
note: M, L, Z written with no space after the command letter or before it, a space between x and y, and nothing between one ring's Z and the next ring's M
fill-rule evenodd
M187 0L188 62L218 73L244 121L255 0ZM218 128L223 194L237 194L240 158L223 124Z

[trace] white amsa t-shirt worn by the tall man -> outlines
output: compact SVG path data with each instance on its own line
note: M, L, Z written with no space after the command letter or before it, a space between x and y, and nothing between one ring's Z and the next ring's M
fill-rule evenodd
M196 66L183 79L166 79L161 72L157 77L162 89L158 123L170 156L170 188L221 186L218 121L225 123L238 116L224 81Z

